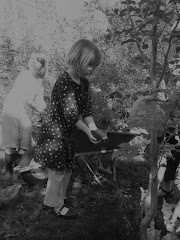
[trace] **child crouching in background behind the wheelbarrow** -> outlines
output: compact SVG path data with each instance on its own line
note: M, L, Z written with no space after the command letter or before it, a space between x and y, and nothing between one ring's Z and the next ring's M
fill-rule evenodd
M115 91L109 95L108 104L106 108L102 110L99 117L95 118L96 125L106 131L109 130L119 130L118 120L120 120L122 116L123 107L123 96L120 92Z

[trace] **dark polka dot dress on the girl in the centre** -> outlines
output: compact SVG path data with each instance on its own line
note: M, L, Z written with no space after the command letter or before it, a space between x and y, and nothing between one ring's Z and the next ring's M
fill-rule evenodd
M51 104L41 126L34 160L57 171L72 169L76 126L80 116L92 115L89 82L75 83L65 72L54 84Z

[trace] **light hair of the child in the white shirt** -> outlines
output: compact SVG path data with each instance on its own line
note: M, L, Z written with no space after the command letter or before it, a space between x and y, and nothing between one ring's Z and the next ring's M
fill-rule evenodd
M28 61L28 68L31 68L31 60L35 59L36 61L41 63L41 73L39 77L43 78L47 72L47 56L42 52L33 52Z

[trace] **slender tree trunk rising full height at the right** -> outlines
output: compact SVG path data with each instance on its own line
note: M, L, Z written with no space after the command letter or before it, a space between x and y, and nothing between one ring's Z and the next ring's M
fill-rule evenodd
M157 9L159 9L160 1L157 1ZM149 185L147 195L150 195L150 207L142 219L140 224L140 235L141 240L147 240L147 228L150 225L152 219L156 215L157 210L157 187L158 187L158 165L157 165L157 78L156 78L156 58L157 58L157 25L158 18L154 15L154 25L151 31L151 39L152 39L152 51L151 51L151 63L150 63L150 77L152 84L152 95L154 101L152 101L152 119L151 119L151 148L150 148L150 175L149 175Z

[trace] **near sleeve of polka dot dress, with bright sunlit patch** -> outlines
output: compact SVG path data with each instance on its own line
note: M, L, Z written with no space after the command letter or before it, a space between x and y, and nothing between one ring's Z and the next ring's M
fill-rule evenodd
M58 79L52 95L53 104L57 105L59 114L64 116L69 125L75 125L79 120L79 111L74 90L66 78Z

